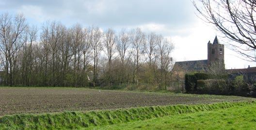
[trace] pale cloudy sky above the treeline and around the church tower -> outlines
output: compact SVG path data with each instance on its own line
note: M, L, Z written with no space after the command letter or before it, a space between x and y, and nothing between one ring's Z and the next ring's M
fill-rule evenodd
M66 26L81 23L101 29L141 28L175 43L176 61L207 59L207 43L218 35L196 16L191 0L0 0L0 12L22 13L39 28L46 21ZM222 38L219 38L220 42ZM256 66L225 48L227 69Z

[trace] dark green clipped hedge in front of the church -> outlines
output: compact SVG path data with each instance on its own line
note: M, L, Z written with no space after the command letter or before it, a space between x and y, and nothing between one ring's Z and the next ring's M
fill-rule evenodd
M222 94L238 96L254 96L253 85L248 85L243 75L234 79L230 74L192 73L186 74L186 91L200 94ZM248 95L249 93L249 95Z

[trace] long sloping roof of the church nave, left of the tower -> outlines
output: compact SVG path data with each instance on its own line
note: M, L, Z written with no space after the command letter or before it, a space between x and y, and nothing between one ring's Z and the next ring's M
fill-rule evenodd
M177 68L186 71L205 71L207 69L207 59L175 62L174 69Z

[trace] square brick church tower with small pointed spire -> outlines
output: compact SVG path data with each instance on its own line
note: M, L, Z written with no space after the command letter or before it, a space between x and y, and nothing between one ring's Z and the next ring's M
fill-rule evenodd
M225 69L224 44L220 44L217 36L213 43L208 42L208 66L219 65Z

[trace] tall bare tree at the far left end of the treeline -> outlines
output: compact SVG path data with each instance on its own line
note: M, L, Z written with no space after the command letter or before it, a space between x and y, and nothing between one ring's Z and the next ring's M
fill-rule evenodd
M27 28L25 17L17 14L12 17L5 13L0 15L0 49L5 56L6 85L14 83L14 70L17 55L24 44L22 39Z

